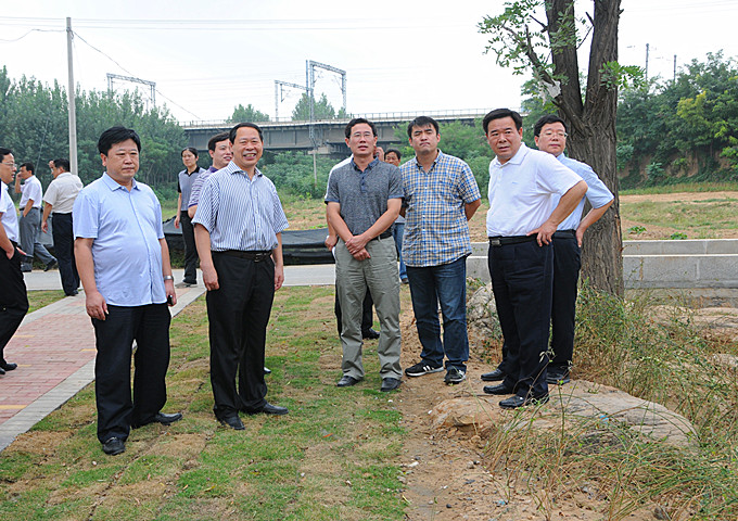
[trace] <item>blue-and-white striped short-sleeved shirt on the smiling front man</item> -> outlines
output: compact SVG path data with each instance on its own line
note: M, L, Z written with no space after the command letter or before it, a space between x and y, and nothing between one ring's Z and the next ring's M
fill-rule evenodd
M273 182L258 168L249 179L232 161L205 181L192 223L209 231L214 252L275 250L289 226Z

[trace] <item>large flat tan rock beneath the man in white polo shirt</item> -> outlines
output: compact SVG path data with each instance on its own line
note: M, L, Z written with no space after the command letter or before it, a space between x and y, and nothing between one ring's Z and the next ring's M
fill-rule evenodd
M586 380L572 381L562 386L551 386L550 401L542 407L529 407L524 414L531 421L520 421L517 412L501 409L499 396L462 396L442 402L431 411L436 428L456 428L475 433L489 433L497 429L565 429L597 432L619 422L652 440L664 441L677 447L689 447L696 442L692 424L666 407L636 398L607 385Z

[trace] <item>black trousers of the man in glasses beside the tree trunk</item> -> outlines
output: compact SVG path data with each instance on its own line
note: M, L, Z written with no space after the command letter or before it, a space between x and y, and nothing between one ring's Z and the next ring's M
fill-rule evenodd
M582 268L581 249L575 237L554 236L554 304L551 306L550 368L569 371L574 355L576 292Z

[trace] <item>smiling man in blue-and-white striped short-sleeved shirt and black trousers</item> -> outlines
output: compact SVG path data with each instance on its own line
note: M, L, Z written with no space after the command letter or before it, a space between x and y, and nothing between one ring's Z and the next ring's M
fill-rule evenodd
M239 411L288 414L266 401L264 382L267 323L275 291L284 282L288 221L275 185L256 168L262 129L240 123L229 140L233 160L205 182L192 223L207 288L213 410L224 425L243 430Z

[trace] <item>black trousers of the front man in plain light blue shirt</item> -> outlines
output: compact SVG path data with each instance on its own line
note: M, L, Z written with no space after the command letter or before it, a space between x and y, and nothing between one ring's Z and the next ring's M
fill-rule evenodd
M169 322L166 304L107 305L105 320L92 319L98 355L94 397L98 440L126 440L130 425L151 421L166 403L169 367ZM130 355L133 354L133 399L130 397Z

